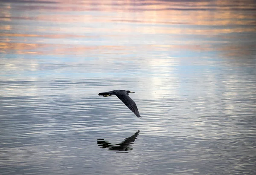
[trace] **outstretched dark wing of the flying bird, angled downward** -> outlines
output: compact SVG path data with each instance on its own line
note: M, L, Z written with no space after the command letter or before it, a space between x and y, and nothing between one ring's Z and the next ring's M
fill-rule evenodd
M131 97L129 97L129 95L127 94L120 94L118 92L115 93L115 95L123 102L125 103L125 105L131 109L132 112L134 112L134 114L138 117L138 118L141 118L140 117L140 113L139 113L139 110L134 102L133 99L131 99Z

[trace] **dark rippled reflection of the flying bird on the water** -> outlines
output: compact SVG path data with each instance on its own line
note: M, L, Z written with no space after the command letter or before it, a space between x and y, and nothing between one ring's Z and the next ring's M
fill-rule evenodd
M97 139L98 146L101 146L101 148L108 148L109 151L130 151L132 150L131 144L135 141L137 136L139 135L140 131L137 131L132 135L131 137L125 138L124 141L121 143L112 145L110 142L105 141L105 139ZM116 152L116 153L126 153L126 152Z

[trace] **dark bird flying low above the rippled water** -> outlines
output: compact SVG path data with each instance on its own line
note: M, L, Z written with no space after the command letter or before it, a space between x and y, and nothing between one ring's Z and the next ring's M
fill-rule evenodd
M129 97L129 93L135 93L135 92L125 91L125 90L113 90L113 91L109 91L109 92L101 92L101 93L99 93L99 95L102 95L104 97L116 95L116 97L118 97L123 103L125 103L125 105L129 109L131 109L131 111L134 112L134 114L138 118L141 118L139 110L136 106L136 103L134 102L133 99L131 99L131 97Z

